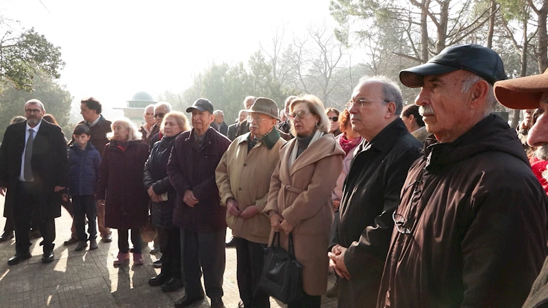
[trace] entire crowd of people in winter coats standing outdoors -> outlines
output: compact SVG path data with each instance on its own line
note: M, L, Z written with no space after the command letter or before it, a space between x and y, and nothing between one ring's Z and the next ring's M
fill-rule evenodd
M153 224L162 269L149 285L184 288L175 307L205 296L224 307L231 245L238 306L270 307L258 286L275 237L302 266L289 308L321 307L325 294L338 307L548 307L548 70L506 80L497 53L465 44L399 79L421 88L414 104L389 77L364 77L342 112L312 94L283 110L249 96L232 125L208 99L190 120L149 105L140 128L83 99L70 141L27 101L0 146L8 264L31 257L38 230L53 261L64 205L76 251L118 231L114 266L143 264L140 229ZM517 129L492 114L498 103L524 110Z

